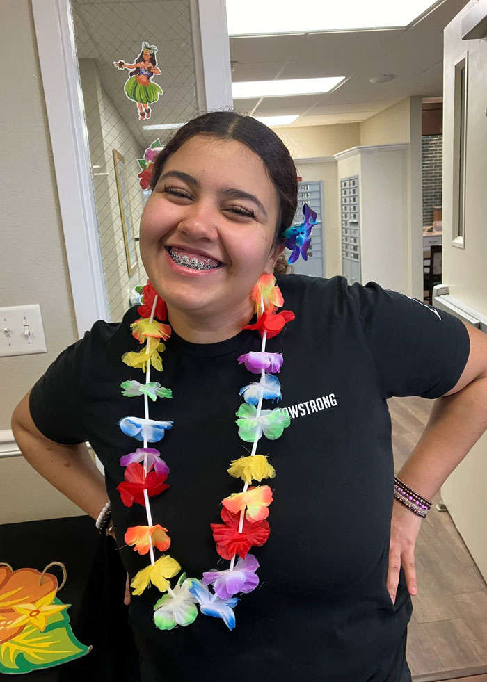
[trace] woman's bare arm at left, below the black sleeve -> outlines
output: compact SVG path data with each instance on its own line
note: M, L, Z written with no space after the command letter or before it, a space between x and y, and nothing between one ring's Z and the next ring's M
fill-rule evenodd
M105 479L86 444L61 445L46 438L33 423L29 393L12 415L11 428L19 450L35 471L93 519L106 503Z

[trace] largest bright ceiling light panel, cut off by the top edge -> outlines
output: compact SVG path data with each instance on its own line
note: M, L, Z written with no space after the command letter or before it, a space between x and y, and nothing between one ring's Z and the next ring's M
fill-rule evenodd
M229 35L274 35L390 29L408 26L437 2L431 0L308 0L296 10L295 0L226 0Z

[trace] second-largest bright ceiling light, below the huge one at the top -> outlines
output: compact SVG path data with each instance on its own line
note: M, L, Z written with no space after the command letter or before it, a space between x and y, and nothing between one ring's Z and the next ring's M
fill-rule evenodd
M248 97L313 95L317 92L330 92L345 80L346 76L328 76L328 78L294 78L282 81L242 81L232 83L232 96L233 99L246 99Z

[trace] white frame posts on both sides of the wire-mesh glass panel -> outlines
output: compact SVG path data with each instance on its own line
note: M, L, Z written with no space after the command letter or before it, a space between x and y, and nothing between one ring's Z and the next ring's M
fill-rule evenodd
M96 320L110 318L70 0L32 0L32 7L74 314L81 338ZM205 94L204 108L232 109L225 0L193 0L191 16L199 21L195 73L204 81L203 87L200 82L197 87ZM195 29L193 26L193 33Z

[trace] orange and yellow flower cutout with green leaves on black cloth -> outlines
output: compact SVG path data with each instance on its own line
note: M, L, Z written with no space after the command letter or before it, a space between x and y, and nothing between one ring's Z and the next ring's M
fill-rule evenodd
M24 568L14 571L0 564L0 673L19 675L54 667L85 656L85 647L74 637L66 609L70 604L56 597L58 580L47 573Z

